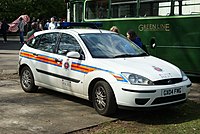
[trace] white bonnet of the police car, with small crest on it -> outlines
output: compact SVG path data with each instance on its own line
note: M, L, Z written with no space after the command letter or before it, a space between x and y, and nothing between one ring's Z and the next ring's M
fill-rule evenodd
M93 65L116 74L122 72L138 74L152 81L182 77L179 68L153 56L98 59Z

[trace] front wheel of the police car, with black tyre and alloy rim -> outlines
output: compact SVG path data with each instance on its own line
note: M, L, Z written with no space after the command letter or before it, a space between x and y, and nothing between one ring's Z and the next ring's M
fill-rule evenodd
M100 115L111 115L116 112L115 96L107 82L98 81L95 84L92 99L93 106Z

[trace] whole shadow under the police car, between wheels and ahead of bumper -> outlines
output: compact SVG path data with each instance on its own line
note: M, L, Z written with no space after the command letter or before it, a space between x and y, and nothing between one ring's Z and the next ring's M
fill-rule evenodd
M45 93L54 97L73 101L81 105L93 107L90 101L52 91L49 89L42 88L39 90L39 93ZM119 109L115 114L109 117L124 121L136 121L138 123L151 125L183 123L200 119L200 103L188 100L184 104L164 108L134 110Z

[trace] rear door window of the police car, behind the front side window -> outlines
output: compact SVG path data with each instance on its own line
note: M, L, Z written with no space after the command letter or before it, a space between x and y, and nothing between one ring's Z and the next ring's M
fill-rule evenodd
M53 53L56 49L56 43L58 41L59 33L47 33L43 34L40 41L35 45L36 49Z

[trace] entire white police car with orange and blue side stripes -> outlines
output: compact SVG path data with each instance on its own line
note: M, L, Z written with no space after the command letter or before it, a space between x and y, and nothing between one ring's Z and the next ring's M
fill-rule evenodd
M19 74L25 92L45 87L88 99L101 115L184 102L191 86L176 66L99 29L35 33L20 50Z

